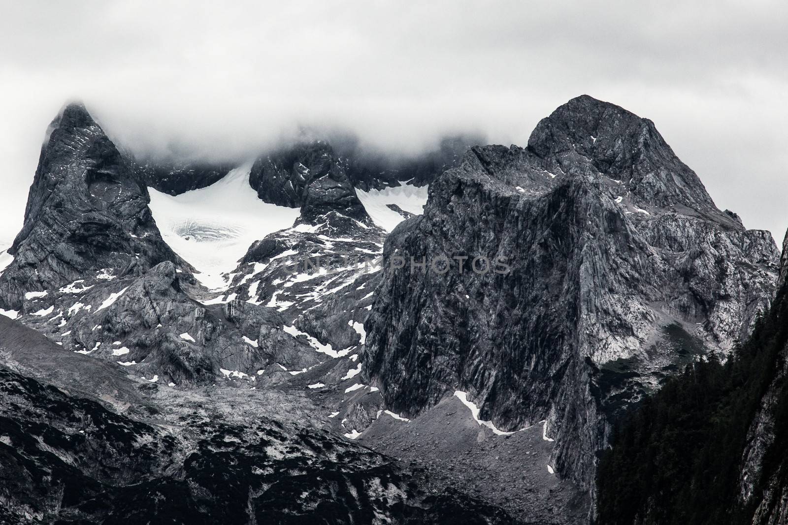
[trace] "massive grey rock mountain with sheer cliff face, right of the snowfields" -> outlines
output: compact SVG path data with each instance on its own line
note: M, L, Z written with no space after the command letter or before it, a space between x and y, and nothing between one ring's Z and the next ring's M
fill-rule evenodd
M466 390L505 430L546 419L556 468L590 488L611 419L747 335L777 257L649 120L575 98L527 149L474 147L389 235L365 377L409 416Z

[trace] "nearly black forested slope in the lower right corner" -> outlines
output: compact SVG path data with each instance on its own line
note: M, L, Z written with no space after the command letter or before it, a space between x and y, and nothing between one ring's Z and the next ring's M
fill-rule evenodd
M788 289L725 364L647 399L600 464L598 523L785 523Z

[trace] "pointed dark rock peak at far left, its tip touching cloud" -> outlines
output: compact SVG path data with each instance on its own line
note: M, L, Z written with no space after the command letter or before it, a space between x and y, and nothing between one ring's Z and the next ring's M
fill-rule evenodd
M28 193L24 225L9 249L15 258L0 277L0 305L28 304L95 272L178 261L147 207L147 188L131 162L84 104L71 103L47 130Z

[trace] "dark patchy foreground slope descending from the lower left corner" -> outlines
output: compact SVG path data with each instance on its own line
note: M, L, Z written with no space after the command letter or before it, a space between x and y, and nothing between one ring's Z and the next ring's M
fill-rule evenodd
M30 332L0 317L3 362L25 371L0 365L4 523L518 523L315 427L303 399L97 374L108 365Z

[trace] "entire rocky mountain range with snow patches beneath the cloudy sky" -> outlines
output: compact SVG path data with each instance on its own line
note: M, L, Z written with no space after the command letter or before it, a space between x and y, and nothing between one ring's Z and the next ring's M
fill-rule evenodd
M786 274L587 95L524 146L240 165L140 160L69 104L0 254L0 521L701 523L665 494L708 449L643 465L725 434L667 397L712 367L749 400L719 486L782 523Z

